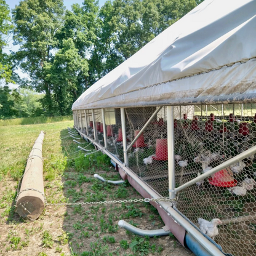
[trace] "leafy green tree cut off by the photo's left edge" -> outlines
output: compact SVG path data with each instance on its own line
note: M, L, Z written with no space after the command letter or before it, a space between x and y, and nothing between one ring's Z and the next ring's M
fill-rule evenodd
M2 50L7 45L7 35L11 29L9 6L6 1L0 0L0 79L4 79L6 82L13 82L10 78L12 66L8 55Z

